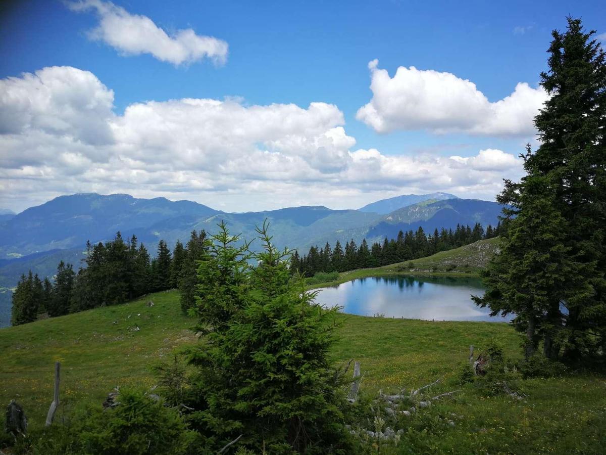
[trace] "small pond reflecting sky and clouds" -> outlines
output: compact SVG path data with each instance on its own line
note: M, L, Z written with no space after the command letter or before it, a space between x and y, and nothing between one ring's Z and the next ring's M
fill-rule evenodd
M511 317L491 317L470 295L484 294L477 278L371 277L322 288L316 302L343 307L342 312L373 316L438 321L508 322Z

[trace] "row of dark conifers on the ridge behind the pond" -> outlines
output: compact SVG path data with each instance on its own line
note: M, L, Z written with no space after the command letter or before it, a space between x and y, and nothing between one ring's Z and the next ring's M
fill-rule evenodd
M317 272L345 272L395 264L458 248L484 238L497 237L503 230L499 221L494 228L488 224L485 231L480 223L476 223L473 228L457 224L454 231L444 227L438 231L436 228L429 235L419 227L416 232L400 231L397 238L385 238L382 243L376 242L370 247L365 238L360 246L352 238L345 243L345 248L337 240L334 248L328 242L324 248L312 246L302 257L295 251L290 258L290 270L293 274L299 271L307 277L313 277Z

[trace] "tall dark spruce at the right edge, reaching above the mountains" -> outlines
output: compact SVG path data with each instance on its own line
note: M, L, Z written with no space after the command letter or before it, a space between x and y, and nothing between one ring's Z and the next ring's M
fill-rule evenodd
M535 118L541 145L534 153L528 147L527 176L520 183L507 182L498 198L517 216L497 228L504 244L487 271L484 300L494 309L516 306L518 328L525 331L532 331L537 302L544 303L534 332L542 337L547 356L556 358L564 348L568 360L598 354L606 346L606 65L593 34L573 18L566 32L552 33L549 70L541 73L551 98ZM538 207L536 198L545 206ZM551 226L539 229L536 218ZM529 244L518 238L521 232L531 236ZM529 255L524 264L528 295L514 301L506 291L514 292L510 288L519 283L511 281L507 289L499 285L499 278L508 282L499 263L516 260L522 248ZM546 261L551 273L531 268L531 259Z

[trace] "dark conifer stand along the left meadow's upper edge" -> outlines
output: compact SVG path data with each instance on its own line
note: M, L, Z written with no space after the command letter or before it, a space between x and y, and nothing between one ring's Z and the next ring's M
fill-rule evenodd
M177 241L171 254L160 240L155 258L133 235L120 232L105 243L87 242L85 266L75 272L70 263L59 262L54 281L29 271L13 292L12 325L32 322L41 314L50 317L98 306L116 305L149 292L179 288L181 308L195 304L197 263L207 251L205 231L192 231L185 246Z

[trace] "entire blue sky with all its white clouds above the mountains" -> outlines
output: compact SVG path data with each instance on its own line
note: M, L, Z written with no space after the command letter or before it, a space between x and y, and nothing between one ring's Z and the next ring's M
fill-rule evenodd
M538 146L551 30L606 2L5 1L0 208L494 200Z

